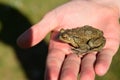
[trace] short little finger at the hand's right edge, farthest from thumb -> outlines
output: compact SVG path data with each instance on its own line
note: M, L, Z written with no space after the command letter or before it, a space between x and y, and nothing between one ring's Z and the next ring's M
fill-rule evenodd
M103 50L100 54L98 54L95 64L96 74L103 76L108 71L112 62L113 54L114 53L109 49Z

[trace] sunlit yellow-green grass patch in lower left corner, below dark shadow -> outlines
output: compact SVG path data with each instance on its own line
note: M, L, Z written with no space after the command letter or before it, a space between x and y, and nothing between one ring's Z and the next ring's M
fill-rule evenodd
M0 42L0 80L27 80L14 53L14 49Z

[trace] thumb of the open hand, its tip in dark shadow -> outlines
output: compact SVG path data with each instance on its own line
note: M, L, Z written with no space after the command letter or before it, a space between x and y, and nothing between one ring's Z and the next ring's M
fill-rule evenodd
M48 13L39 23L25 31L17 40L20 47L27 48L40 42L52 29L57 26L55 12Z

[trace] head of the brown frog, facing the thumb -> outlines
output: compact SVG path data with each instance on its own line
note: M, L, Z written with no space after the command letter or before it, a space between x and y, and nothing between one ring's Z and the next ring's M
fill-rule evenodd
M69 43L72 46L75 46L76 44L75 44L73 37L74 36L69 29L67 29L67 30L61 29L60 30L59 39L65 43Z

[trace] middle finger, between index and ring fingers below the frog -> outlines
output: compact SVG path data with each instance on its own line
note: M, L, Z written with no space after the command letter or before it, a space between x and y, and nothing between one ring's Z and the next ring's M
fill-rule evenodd
M64 61L60 80L77 80L80 67L80 57L76 54L69 54Z

